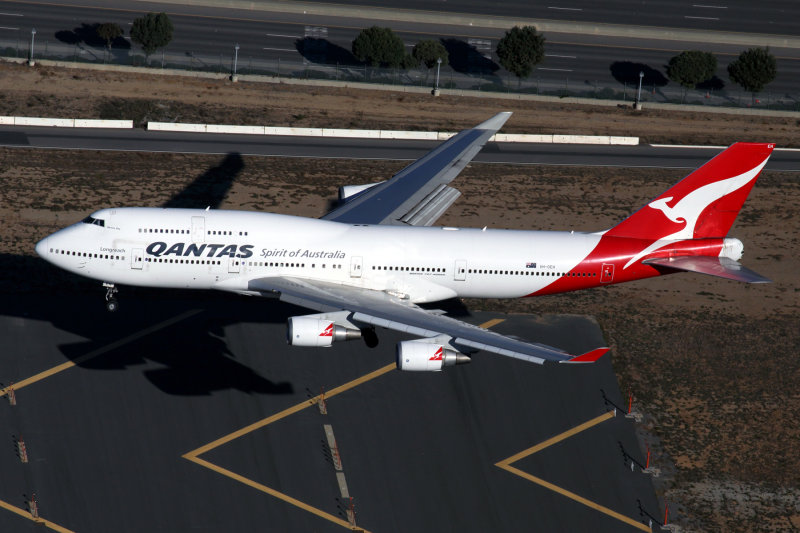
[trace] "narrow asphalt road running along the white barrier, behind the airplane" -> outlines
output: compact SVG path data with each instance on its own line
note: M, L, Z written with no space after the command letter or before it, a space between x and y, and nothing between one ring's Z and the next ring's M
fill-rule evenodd
M132 150L277 157L414 161L440 143L327 137L277 137L0 126L0 146L77 150ZM488 143L475 157L483 163L653 168L697 168L721 148ZM800 151L775 151L767 170L800 170ZM388 176L387 176L388 177Z

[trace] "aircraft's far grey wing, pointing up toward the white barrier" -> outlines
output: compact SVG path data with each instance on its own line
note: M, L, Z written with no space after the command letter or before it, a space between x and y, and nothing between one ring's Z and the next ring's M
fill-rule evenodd
M390 180L349 198L322 219L347 224L430 226L461 195L447 184L510 116L510 112L498 113L451 137Z

